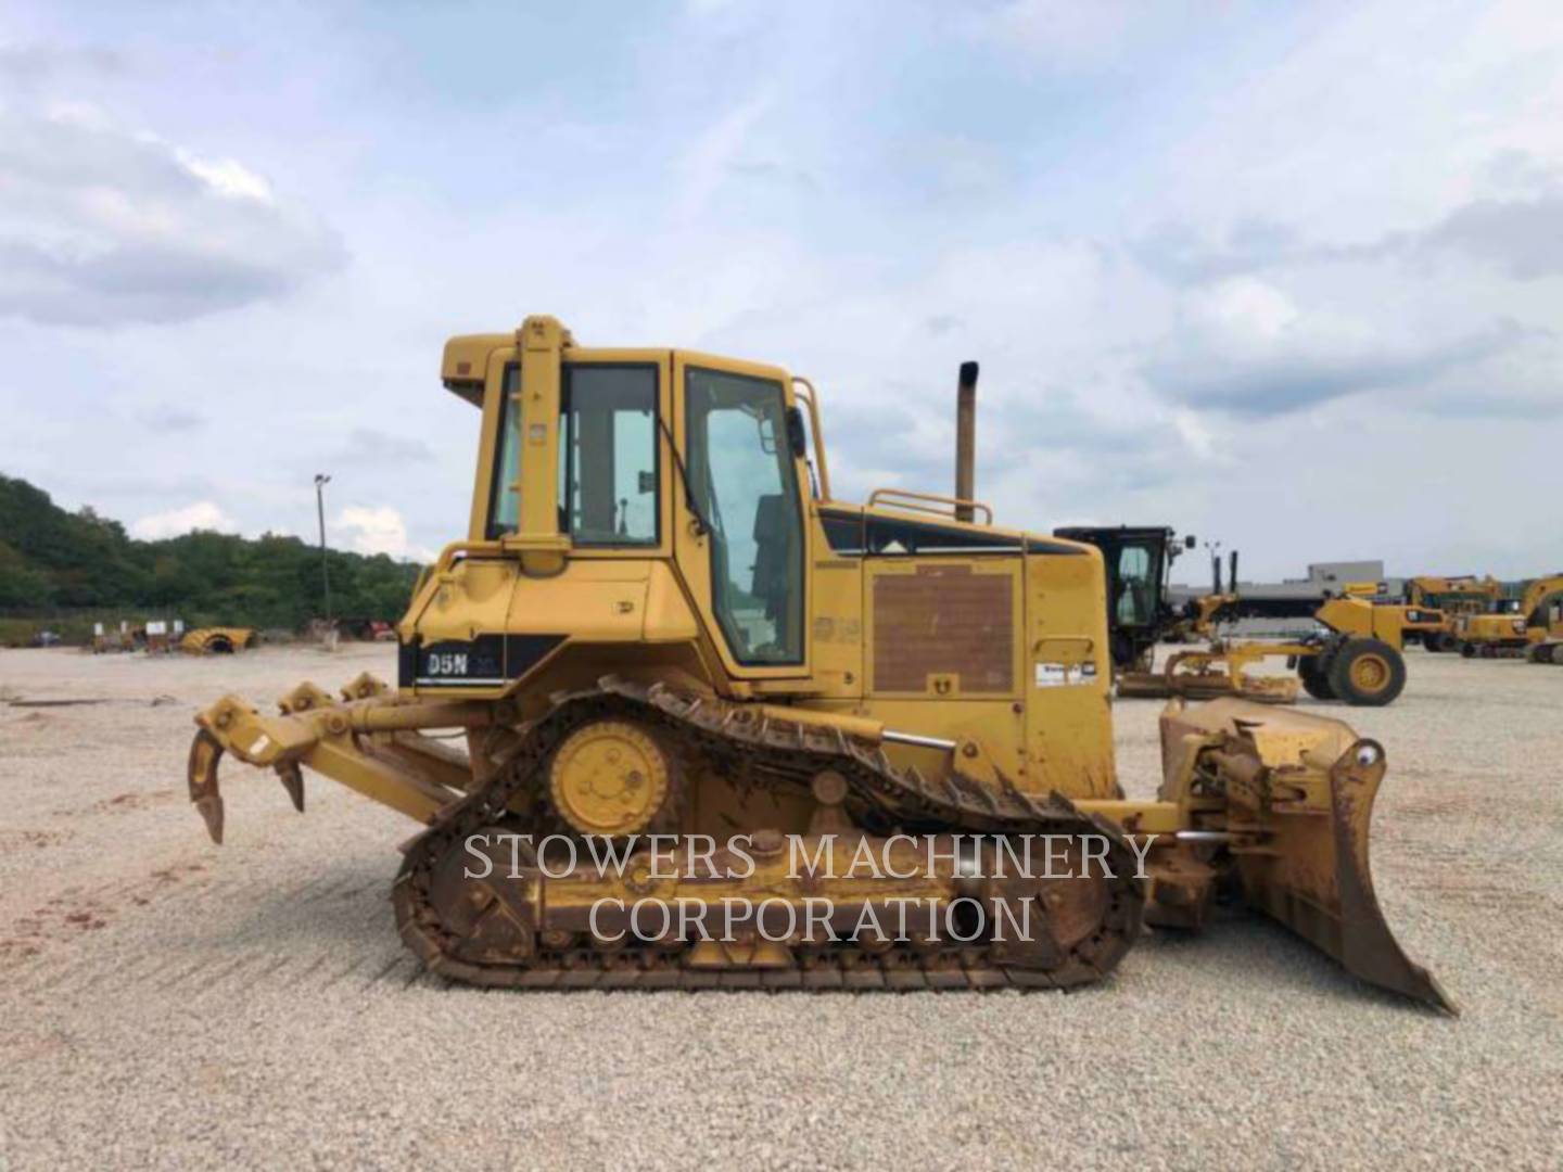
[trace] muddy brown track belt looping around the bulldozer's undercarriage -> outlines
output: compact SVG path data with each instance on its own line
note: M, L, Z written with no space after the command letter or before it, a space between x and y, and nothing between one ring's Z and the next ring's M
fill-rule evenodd
M791 720L766 720L756 709L713 697L603 677L597 688L550 697L553 708L525 730L513 756L483 789L441 811L406 850L392 891L402 941L442 977L514 989L1058 989L1102 980L1139 933L1144 884L1119 828L1082 813L1060 794L1025 794L1005 781L993 788L958 772L935 781L916 769L896 769L878 745ZM553 749L586 720L630 719L660 728L685 752L706 758L727 775L760 784L808 791L821 770L841 774L849 802L875 820L911 833L1100 834L1110 844L1113 878L1099 930L1049 970L996 964L985 947L950 945L935 952L896 945L871 953L858 947L805 952L791 969L685 969L677 953L644 947L611 952L541 950L514 964L478 964L450 953L428 902L430 872L456 841L508 817L524 792L544 792L541 772Z

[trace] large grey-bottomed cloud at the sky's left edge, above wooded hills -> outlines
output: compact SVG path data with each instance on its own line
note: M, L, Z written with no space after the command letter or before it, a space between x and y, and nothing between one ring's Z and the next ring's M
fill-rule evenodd
M0 108L0 317L181 322L344 264L334 231L242 163L91 103Z

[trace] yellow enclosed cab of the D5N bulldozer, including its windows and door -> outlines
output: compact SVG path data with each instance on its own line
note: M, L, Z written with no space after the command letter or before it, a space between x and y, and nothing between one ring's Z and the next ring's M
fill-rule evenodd
M483 413L477 477L467 539L399 630L403 688L511 686L567 639L807 681L811 477L785 370L580 347L530 317L452 339L442 377Z

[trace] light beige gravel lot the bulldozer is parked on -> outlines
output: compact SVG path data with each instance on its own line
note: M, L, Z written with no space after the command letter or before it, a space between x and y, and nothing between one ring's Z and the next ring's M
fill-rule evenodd
M445 988L388 900L411 825L325 781L299 817L191 711L334 686L386 647L0 652L0 1167L578 1164L1513 1167L1563 1163L1563 669L1410 652L1374 833L1388 919L1465 1014L1235 916L1069 995ZM1155 702L1118 705L1155 786Z

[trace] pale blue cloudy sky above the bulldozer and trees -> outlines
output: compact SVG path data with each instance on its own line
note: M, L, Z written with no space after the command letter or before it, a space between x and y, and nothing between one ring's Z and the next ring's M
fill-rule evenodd
M808 373L842 497L977 358L1003 523L1552 570L1560 111L1552 0L13 3L0 472L420 556L441 342L553 313Z

